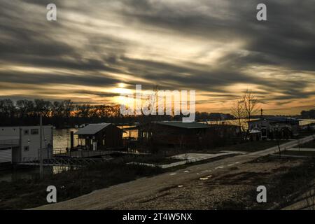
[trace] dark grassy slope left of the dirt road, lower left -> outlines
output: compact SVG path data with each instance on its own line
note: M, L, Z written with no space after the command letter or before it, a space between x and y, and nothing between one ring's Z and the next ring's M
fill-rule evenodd
M44 179L19 180L0 183L0 209L29 209L46 202L46 188L57 188L57 201L62 202L93 190L107 188L118 183L133 181L143 176L162 173L157 167L126 165L106 162L82 169L72 169Z

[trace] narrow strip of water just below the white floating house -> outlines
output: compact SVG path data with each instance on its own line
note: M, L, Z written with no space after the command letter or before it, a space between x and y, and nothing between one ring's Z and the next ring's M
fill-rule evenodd
M62 167L62 166L53 166L53 167L43 167L44 176L50 176L53 174L59 174L66 172L73 167ZM39 167L20 167L19 169L8 169L0 172L0 182L1 181L19 181L21 179L36 179L39 177Z

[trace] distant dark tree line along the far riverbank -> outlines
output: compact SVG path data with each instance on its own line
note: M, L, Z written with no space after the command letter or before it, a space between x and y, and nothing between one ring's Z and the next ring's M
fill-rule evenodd
M155 120L181 120L182 116L121 116L117 104L76 104L70 99L51 102L44 99L0 99L0 126L38 125L39 116L44 125L57 128L74 127L86 123L130 124ZM196 120L230 120L223 113L196 113Z

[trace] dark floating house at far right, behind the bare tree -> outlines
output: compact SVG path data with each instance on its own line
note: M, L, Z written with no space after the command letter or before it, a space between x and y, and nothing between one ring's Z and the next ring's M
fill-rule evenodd
M248 122L250 133L260 132L260 139L290 139L299 134L300 120L295 118L262 118Z

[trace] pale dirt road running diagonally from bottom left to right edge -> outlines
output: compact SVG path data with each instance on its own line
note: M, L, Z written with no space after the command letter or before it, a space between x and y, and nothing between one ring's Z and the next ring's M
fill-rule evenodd
M313 137L305 137L299 141L290 141L281 145L281 150L293 148L298 144L313 140ZM166 188L179 186L187 181L192 181L203 176L208 176L222 169L235 167L241 163L249 162L263 155L268 155L279 151L278 146L264 151L237 155L232 158L225 158L215 162L209 162L202 165L192 165L186 169L179 169L173 173L160 174L150 178L137 179L128 183L121 183L110 188L95 190L94 192L76 197L72 200L49 204L35 209L111 209L123 202L132 202L133 200L154 195Z

